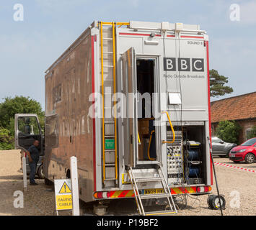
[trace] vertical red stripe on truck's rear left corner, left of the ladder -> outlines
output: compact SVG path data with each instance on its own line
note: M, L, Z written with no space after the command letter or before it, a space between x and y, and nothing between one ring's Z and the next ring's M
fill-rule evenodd
M93 111L93 117L94 117L94 93L95 93L95 84L94 84L94 77L95 77L95 73L94 73L94 40L95 37L92 36L92 111ZM94 169L93 169L93 181L94 181L94 191L96 191L96 141L95 141L95 118L92 119L92 126L93 126L93 165L94 165Z

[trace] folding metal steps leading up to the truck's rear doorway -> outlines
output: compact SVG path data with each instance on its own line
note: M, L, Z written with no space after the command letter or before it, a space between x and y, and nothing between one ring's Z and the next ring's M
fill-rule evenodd
M175 202L172 198L172 193L169 190L169 186L167 183L167 180L164 177L164 172L162 170L161 165L156 165L156 175L154 177L140 177L137 178L134 176L134 171L136 169L133 169L133 167L128 168L128 175L131 180L131 185L133 188L133 193L135 194L136 204L138 207L138 212L142 216L154 216L154 215L168 215L168 214L176 214L177 209L175 206ZM156 193L156 194L140 194L138 189L138 183L148 183L148 182L160 182L162 184L162 190L164 193ZM160 188L161 189L161 188ZM166 198L167 203L169 205L169 210L163 210L163 211L151 211L151 212L145 212L143 200L146 199L157 199L157 198Z

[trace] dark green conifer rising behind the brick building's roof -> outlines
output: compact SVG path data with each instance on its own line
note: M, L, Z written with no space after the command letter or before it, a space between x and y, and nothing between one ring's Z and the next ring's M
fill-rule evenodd
M226 93L232 93L233 88L225 86L229 80L224 75L219 75L217 70L210 70L210 91L211 96L224 96Z

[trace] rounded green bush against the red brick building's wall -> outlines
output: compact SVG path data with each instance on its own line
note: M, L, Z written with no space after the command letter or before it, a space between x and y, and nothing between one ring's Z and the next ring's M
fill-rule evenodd
M236 121L220 121L216 129L216 135L224 142L238 143L241 126Z

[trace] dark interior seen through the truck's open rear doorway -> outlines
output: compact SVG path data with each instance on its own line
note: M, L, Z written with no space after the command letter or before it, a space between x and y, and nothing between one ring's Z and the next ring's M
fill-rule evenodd
M154 93L154 60L137 59L138 93L138 160L154 161L156 156L156 130L154 126L152 96Z

